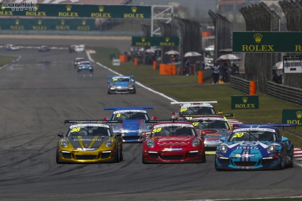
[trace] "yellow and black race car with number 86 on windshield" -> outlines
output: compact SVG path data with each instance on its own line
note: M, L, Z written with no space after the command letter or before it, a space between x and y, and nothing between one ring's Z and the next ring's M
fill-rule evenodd
M65 120L71 123L56 150L57 163L101 163L123 160L121 133L113 133L105 121Z

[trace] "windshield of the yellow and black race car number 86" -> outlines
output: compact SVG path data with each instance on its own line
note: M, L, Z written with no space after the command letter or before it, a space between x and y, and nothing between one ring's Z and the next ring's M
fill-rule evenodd
M67 137L71 136L112 136L111 130L108 127L101 126L77 126L70 127L67 131Z

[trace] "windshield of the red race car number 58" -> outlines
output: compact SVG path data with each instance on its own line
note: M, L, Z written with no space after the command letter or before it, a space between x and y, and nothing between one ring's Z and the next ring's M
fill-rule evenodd
M195 130L187 126L155 127L152 130L152 137L158 136L195 136Z

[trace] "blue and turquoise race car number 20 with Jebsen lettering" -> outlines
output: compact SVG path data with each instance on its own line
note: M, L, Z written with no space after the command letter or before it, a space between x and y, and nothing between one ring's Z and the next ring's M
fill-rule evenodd
M237 127L237 128L236 128ZM284 169L293 167L293 144L276 127L295 124L234 124L217 146L215 169Z

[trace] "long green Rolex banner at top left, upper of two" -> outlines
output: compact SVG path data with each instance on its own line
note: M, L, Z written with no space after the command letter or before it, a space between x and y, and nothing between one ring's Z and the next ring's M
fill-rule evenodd
M19 5L19 4L18 4ZM0 16L64 17L64 18L123 18L150 19L151 6L134 5L81 5L81 4L31 4L17 7L0 4ZM29 5L30 6L30 5Z

